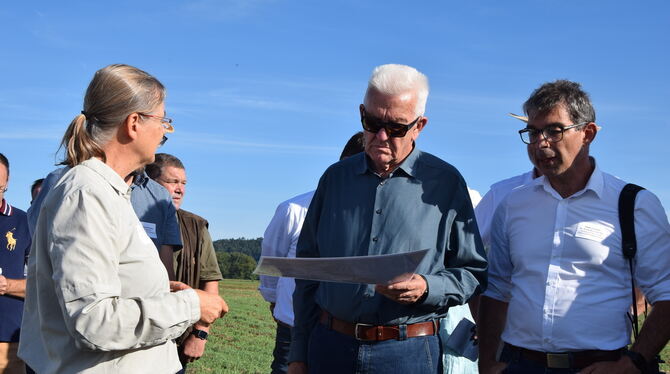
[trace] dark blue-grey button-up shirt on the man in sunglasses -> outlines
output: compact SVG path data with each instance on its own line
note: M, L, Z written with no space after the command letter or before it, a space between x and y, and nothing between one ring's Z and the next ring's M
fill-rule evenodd
M296 281L290 361L306 361L319 309L377 325L443 317L486 286L486 258L472 203L458 170L414 149L382 179L360 153L332 165L319 181L298 241L298 257L342 257L429 249L418 274L428 294L402 305L374 286Z

